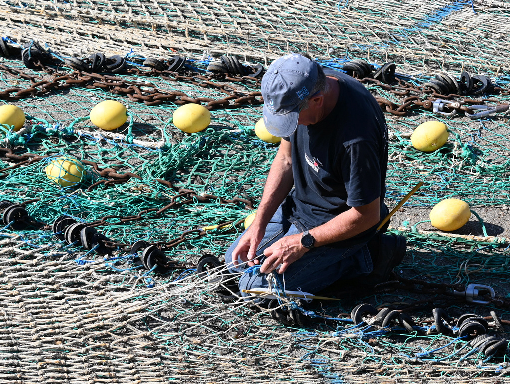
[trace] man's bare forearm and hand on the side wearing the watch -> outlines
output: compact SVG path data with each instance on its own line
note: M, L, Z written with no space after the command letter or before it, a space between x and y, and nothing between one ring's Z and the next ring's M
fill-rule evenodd
M368 230L379 222L379 216L377 198L367 205L350 208L327 223L311 229L310 233L315 238L315 246L327 245ZM278 273L283 273L307 251L308 248L301 245L301 234L285 236L264 251L267 258L262 264L261 272L269 273L282 264Z

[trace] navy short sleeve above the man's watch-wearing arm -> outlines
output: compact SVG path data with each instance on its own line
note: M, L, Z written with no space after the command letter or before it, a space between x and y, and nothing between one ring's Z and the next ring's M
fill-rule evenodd
M375 142L358 141L346 147L340 167L349 207L361 207L380 197L379 164L379 147Z

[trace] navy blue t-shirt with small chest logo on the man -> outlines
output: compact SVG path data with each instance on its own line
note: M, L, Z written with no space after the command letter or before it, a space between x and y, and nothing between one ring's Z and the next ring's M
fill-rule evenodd
M384 114L358 80L342 72L324 72L339 82L335 108L317 124L298 125L286 138L292 144L292 218L308 229L377 198L381 215L387 214L388 127ZM375 228L352 239L371 236Z

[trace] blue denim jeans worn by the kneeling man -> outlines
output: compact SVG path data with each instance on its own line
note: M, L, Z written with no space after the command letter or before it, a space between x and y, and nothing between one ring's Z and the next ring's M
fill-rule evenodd
M261 264L265 259L264 250L268 246L284 236L307 230L301 223L289 221L290 209L288 206L287 203L282 204L266 228L264 239L257 249L257 256L261 260ZM234 241L225 254L225 264L232 273L243 272L248 268L247 264L235 266L232 263L232 252L238 242L239 238ZM282 284L285 283L285 289L288 291L303 291L313 294L339 279L352 279L368 275L372 268L372 260L366 242L346 248L331 248L325 245L305 253L300 259L289 265L287 270L279 275L279 278ZM243 289L267 288L269 284L267 276L266 273L243 273L239 278L239 290L242 292Z

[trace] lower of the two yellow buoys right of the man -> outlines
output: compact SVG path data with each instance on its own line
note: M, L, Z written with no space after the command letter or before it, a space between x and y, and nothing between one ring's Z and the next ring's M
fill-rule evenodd
M428 217L430 224L440 231L455 231L471 217L469 205L459 199L446 199L436 204Z

